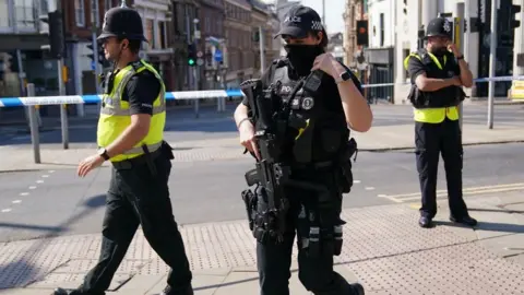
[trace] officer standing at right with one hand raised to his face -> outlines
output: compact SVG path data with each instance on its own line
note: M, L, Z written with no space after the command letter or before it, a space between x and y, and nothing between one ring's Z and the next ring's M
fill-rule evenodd
M428 24L426 48L404 61L412 79L409 101L414 106L416 162L422 204L419 225L431 227L437 214L437 172L439 154L444 161L448 199L452 222L469 226L477 221L468 215L462 196L463 149L458 105L463 86L473 85L464 56L452 44L453 24L444 17Z

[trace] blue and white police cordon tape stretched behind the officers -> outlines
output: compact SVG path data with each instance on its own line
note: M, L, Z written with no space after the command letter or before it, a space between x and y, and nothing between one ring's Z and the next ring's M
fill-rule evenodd
M517 81L524 80L524 75L520 76L496 76L475 79L475 82L500 82L500 81ZM408 84L408 83L402 83ZM395 83L369 84L362 87L383 87L394 86ZM240 90L209 90L209 91L181 91L167 92L166 101L175 99L201 99L201 98L224 98L224 97L241 97L243 93ZM62 96L28 96L28 97L0 97L0 107L20 107L20 106L45 106L45 105L78 105L78 104L96 104L102 101L102 95L62 95Z

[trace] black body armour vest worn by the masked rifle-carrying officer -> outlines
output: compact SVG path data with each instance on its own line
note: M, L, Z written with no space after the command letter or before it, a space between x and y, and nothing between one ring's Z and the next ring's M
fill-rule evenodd
M294 162L311 163L336 157L349 138L344 113L329 111L322 103L321 92L310 93L302 87L290 98L299 80L289 78L287 62L279 60L274 64L271 83L281 81L278 96L289 106L288 128L291 132L287 133L293 138L289 141L293 141Z

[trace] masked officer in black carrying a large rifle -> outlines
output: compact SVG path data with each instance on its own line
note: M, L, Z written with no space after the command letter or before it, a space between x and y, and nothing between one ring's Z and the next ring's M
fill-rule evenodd
M297 235L299 279L314 294L364 294L333 270L342 250L343 192L353 185L349 128L366 132L372 114L360 83L325 54L318 13L293 7L282 22L287 56L260 80L240 85L246 99L235 120L240 141L257 157L242 192L257 238L261 295L287 295Z

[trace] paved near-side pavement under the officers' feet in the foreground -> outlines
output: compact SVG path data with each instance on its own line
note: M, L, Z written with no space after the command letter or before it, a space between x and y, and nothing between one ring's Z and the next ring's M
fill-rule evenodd
M346 209L343 253L336 270L366 294L524 294L523 192L468 199L478 226L448 221L439 202L433 228L417 225L417 205L398 203ZM258 294L254 239L247 221L180 226L195 294ZM78 286L96 263L100 236L72 235L0 245L0 294L49 294ZM297 249L294 250L296 261ZM297 264L294 295L309 294ZM158 294L167 267L138 232L108 294Z

